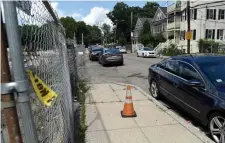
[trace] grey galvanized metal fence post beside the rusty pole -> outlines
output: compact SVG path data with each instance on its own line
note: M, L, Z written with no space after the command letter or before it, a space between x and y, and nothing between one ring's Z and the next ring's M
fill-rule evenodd
M15 82L27 82L27 74L24 68L24 56L19 35L19 26L15 1L3 1L7 38L12 57L12 71ZM28 85L26 87L28 89ZM23 121L24 141L26 143L38 143L37 132L31 112L29 94L27 91L17 93L17 105L20 109Z

